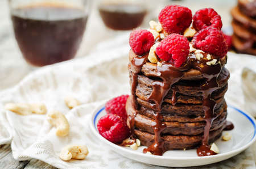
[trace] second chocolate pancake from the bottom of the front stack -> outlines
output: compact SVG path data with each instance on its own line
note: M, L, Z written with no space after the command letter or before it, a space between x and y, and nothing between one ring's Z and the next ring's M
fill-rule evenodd
M210 131L225 125L226 112L223 112L212 123ZM204 133L205 121L202 122L165 122L166 128L162 134L195 136ZM154 119L140 115L135 116L135 128L154 134Z

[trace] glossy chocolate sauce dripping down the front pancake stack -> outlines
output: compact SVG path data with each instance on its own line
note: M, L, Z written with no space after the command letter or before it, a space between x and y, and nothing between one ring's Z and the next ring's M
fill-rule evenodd
M133 100L133 108L137 109L137 96L135 95L137 83L138 83L138 74L141 73L142 66L147 62L147 54L144 56L136 56L132 51L130 54L133 55L131 59L131 95ZM213 155L214 152L210 150L209 146L209 131L214 119L214 108L216 106L216 102L211 98L212 92L218 88L217 78L221 72L221 63L220 59L217 59L217 64L215 65L207 65L208 62L207 53L202 53L204 58L201 60L197 60L194 53L189 53L189 57L187 63L181 67L175 67L174 65L162 61L162 66L157 66L158 78L162 81L155 81L152 86L153 90L150 96L148 96L147 101L150 101L151 108L155 110L154 114L154 143L148 146L143 150L143 153L150 151L154 155L162 155L166 148L164 146L163 138L161 137L162 131L166 128L166 124L163 121L163 117L161 115L161 108L164 97L167 95L169 90L172 90L172 105L177 103L176 91L177 88L173 86L176 82L180 81L181 78L184 77L185 71L189 69L196 69L201 72L203 77L205 78L205 82L201 84L200 88L203 91L203 109L205 112L205 129L204 129L204 137L201 146L197 149L197 154L199 156L203 155ZM130 128L132 137L134 136L134 118L136 113L133 116L129 116Z

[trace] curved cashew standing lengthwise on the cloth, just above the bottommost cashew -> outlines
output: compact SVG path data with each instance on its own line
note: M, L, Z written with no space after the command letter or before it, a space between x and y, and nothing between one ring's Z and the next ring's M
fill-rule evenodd
M69 123L66 117L58 112L53 111L47 114L47 120L56 127L56 135L60 137L67 136L69 133Z

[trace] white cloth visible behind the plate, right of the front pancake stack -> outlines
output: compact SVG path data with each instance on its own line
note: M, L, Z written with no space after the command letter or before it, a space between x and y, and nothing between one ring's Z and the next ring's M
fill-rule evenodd
M255 56L235 54L231 52L228 53L228 64L226 65L226 68L230 71L230 78L225 98L229 104L241 109L246 109L247 113L250 113L254 117L256 117L256 81L255 79L250 78L251 75L246 76L245 72L247 72L247 69L256 72L255 65ZM251 103L250 107L247 106L248 103Z

